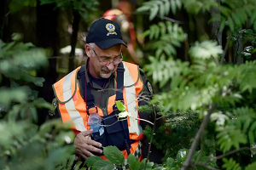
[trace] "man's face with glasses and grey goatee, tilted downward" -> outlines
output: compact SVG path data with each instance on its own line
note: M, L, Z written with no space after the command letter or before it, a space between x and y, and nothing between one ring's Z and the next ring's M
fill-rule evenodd
M113 64L113 61L120 58L121 45L101 49L94 44L93 48L89 44L85 46L86 54L90 57L90 75L96 78L110 77L118 67L118 65Z

